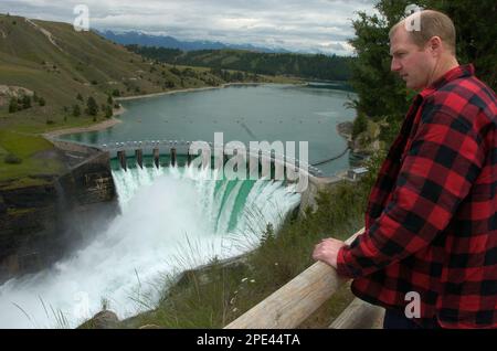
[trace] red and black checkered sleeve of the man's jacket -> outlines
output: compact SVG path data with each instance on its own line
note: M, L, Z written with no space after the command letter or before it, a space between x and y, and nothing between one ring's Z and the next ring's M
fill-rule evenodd
M461 116L423 116L390 202L364 234L339 251L338 274L367 276L429 246L478 177L485 159L482 143Z

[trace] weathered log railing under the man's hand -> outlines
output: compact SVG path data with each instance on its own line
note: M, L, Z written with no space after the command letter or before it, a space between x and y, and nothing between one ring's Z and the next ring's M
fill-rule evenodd
M363 228L346 243L350 244L362 232ZM317 262L224 328L297 328L346 283L332 267ZM330 328L364 328L364 319L378 319L381 312L380 308L356 299Z

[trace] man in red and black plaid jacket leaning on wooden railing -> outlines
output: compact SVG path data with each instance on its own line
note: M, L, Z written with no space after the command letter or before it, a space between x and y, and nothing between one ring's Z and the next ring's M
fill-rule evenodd
M409 31L415 15L421 31ZM455 45L453 22L436 11L392 28L391 70L420 93L371 191L364 233L350 246L324 240L313 254L387 308L384 328L497 328L496 95L459 66Z

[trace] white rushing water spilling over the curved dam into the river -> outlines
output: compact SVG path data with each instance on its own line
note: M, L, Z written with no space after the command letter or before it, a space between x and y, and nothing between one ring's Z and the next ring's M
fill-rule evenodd
M163 275L250 251L300 200L281 182L212 181L208 172L115 171L121 214L71 258L0 286L0 328L73 328L103 300L130 317L157 301Z

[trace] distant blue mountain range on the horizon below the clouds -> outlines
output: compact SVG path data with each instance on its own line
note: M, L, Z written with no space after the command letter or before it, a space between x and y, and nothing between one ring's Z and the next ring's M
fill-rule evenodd
M252 44L224 44L221 42L211 42L211 41L179 41L176 38L169 35L151 35L136 31L116 33L113 31L102 31L98 32L102 36L116 42L121 45L130 45L136 44L140 46L157 46L157 47L167 47L167 49L179 49L181 51L197 51L197 50L224 50L224 49L234 49L234 50L247 50L247 51L256 51L264 53L285 53L288 52L284 49L268 49L268 47L260 47L254 46Z

